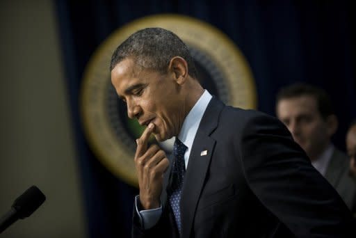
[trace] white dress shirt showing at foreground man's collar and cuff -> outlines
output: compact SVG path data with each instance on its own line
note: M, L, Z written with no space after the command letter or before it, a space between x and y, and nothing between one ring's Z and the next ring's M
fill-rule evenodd
M191 149L193 146L195 135L197 134L197 129L200 125L200 121L202 120L204 112L207 109L207 106L211 100L211 97L211 94L207 90L204 90L202 96L200 96L199 100L197 100L191 111L189 111L188 115L184 119L181 131L179 132L179 140L187 147L187 150L184 154L184 162L186 168L188 166L189 155L191 154ZM156 209L138 211L137 204L140 203L138 199L139 196L136 196L135 206L136 212L140 217L141 224L143 224L144 229L152 228L152 226L154 226L161 217L162 206Z

